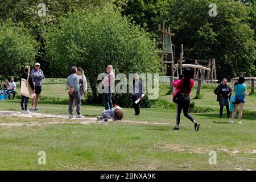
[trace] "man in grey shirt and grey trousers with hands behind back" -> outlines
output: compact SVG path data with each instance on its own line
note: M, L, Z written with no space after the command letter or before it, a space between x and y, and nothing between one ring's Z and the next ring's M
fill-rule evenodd
M68 106L68 113L69 118L73 118L73 101L76 98L76 118L84 118L81 115L81 96L79 93L79 76L77 73L77 68L72 67L71 68L72 74L69 75L68 80L66 82L67 88L69 89L68 96L69 96L69 106Z

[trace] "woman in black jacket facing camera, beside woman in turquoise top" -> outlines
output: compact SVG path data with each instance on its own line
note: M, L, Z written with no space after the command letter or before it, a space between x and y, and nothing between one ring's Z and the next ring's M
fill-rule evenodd
M220 118L222 118L223 108L226 106L226 113L228 114L228 119L230 119L229 97L231 88L227 85L227 82L228 80L223 78L221 84L214 90L214 93L217 95L217 101L220 104Z

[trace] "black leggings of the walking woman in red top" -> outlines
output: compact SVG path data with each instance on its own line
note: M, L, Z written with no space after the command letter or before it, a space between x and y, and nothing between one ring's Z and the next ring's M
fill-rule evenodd
M194 118L190 114L188 114L189 105L190 105L190 96L186 97L185 100L180 104L177 104L177 107L176 107L176 124L177 125L180 124L180 114L182 109L183 109L184 116L187 117L190 121L192 122L194 121Z

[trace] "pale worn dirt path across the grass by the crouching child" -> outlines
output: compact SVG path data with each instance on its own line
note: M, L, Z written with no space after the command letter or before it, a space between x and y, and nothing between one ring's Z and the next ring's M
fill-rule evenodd
M54 124L82 124L88 125L91 123L105 124L108 122L98 122L96 118L85 117L85 118L68 118L65 115L54 115L54 114L42 114L42 113L30 113L30 114L20 114L18 111L0 111L0 115L5 115L6 117L21 117L21 118L54 118L61 119L62 121L53 121L53 122L30 122L30 123L0 123L0 126L46 126ZM111 119L112 121L112 119ZM150 123L150 122L141 122L141 121L122 121L123 123L137 123L137 124L150 124L150 125L169 125L168 123Z

